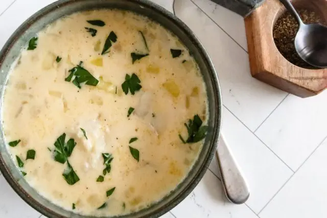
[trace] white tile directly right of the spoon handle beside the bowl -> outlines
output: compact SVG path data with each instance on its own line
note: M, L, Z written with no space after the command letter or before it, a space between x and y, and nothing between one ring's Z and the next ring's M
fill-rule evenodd
M250 188L246 204L258 213L293 174L258 138L223 108L223 134ZM211 169L218 174L216 161Z

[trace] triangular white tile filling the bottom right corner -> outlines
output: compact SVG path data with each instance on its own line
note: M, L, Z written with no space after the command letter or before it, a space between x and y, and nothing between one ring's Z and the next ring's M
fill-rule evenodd
M262 218L327 217L327 140L303 164L268 206Z

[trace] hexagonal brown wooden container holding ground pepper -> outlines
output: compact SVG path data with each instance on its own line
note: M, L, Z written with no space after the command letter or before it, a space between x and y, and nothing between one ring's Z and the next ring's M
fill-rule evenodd
M295 8L313 10L327 21L325 0L292 2ZM286 60L275 46L273 26L285 11L278 0L269 0L245 18L251 74L256 79L302 98L317 95L327 88L327 69L297 67Z

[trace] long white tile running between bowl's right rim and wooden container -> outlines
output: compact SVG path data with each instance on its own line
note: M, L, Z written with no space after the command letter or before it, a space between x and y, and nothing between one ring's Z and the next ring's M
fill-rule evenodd
M190 0L176 0L175 13L195 32L211 56L224 105L255 130L287 94L252 78L247 53Z

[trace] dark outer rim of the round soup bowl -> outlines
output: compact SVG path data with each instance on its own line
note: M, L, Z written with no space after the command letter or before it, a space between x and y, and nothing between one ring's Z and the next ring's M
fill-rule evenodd
M20 39L20 36L22 33L27 31L32 24L34 24L39 18L44 17L48 15L49 13L55 11L59 7L65 7L69 4L76 4L77 2L83 2L88 0L59 0L56 1L50 5L47 5L37 12L35 12L33 15L31 15L29 18L27 18L24 23L22 23L9 37L9 39L6 41L5 45L3 46L2 50L0 51L0 67L3 64L4 59L6 58L8 52L11 50L14 43ZM105 0L110 1L110 0ZM195 173L193 180L190 180L190 182L185 186L184 192L179 193L176 195L174 199L168 202L164 207L161 207L157 209L156 211L149 214L148 217L158 217L160 215L163 215L173 209L175 206L177 206L182 200L184 200L196 187L196 185L201 181L201 179L204 176L204 173L206 172L209 164L211 163L215 151L217 149L218 140L221 133L221 125L222 125L222 100L221 100L221 89L219 85L218 76L216 73L216 70L214 68L213 62L209 55L207 54L206 50L204 49L202 43L197 38L197 36L193 33L193 31L186 26L182 20L180 20L177 16L175 16L173 13L168 11L167 9L161 7L160 5L150 2L149 0L125 0L127 2L133 2L136 4L139 4L140 6L146 6L151 8L155 13L160 13L161 15L165 16L166 18L170 19L173 23L175 23L176 26L178 26L179 29L182 31L188 33L188 36L192 40L194 46L197 48L198 52L201 54L201 57L203 58L209 73L211 74L211 83L213 84L213 89L215 91L215 113L217 113L217 120L215 120L215 126L216 131L211 134L211 141L212 147L208 149L208 152L206 156L203 158L203 164L202 167L198 169L198 171ZM137 12L135 12L137 13ZM167 27L165 27L167 28ZM169 30L169 28L167 28ZM196 164L196 163L195 163ZM195 165L194 164L194 165ZM12 173L10 172L9 168L7 167L2 155L0 155L0 171L2 172L4 178L8 182L8 184L11 186L11 188L19 195L19 197L24 200L28 205L30 205L32 208L40 212L41 214L47 216L47 217L66 217L61 216L55 211L47 208L46 206L42 205L32 197L30 197L29 193L25 191L19 184L16 179L12 176ZM187 178L188 176L186 176ZM175 190L175 189L174 189ZM160 202L160 200L158 201ZM60 206L59 206L60 207ZM137 211L138 212L138 211ZM129 215L129 214L124 214ZM85 217L91 217L91 216L85 216ZM93 217L93 216L92 216ZM121 216L113 216L113 217L121 217Z

